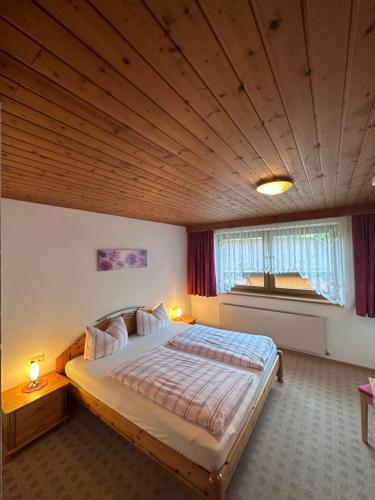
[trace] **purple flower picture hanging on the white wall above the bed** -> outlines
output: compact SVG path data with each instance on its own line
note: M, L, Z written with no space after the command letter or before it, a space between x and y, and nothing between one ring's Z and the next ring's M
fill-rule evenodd
M147 250L98 250L98 271L147 267Z

